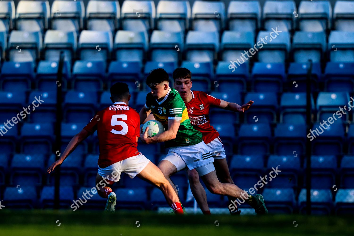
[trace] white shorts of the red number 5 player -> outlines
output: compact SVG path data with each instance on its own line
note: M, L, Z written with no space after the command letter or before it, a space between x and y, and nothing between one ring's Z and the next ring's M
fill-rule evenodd
M149 161L146 156L140 153L105 168L98 167L98 174L114 182L119 181L122 172L128 174L130 178L134 178L149 164Z

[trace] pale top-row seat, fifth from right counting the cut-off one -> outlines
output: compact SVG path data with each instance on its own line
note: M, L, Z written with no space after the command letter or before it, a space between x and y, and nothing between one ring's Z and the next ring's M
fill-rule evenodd
M222 1L194 1L192 28L196 31L220 32L225 27L225 4Z

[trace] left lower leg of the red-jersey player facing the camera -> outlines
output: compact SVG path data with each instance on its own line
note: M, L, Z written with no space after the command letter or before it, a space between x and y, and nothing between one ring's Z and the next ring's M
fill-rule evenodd
M205 189L200 183L198 172L195 169L188 170L187 172L190 190L192 191L195 201L198 203L203 214L210 214Z

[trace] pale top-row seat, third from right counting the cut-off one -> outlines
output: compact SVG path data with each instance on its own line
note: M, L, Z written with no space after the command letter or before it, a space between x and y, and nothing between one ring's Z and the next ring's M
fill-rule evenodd
M273 30L272 28L278 26L279 30L283 32L291 32L295 28L294 11L297 12L296 4L293 0L265 1L262 11L263 28L271 31Z

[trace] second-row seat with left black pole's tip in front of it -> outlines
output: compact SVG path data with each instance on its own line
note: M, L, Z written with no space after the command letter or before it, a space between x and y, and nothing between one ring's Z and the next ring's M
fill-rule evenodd
M70 64L75 59L78 37L75 31L47 30L44 36L44 58L48 61L59 61L60 52L64 52L64 60Z

